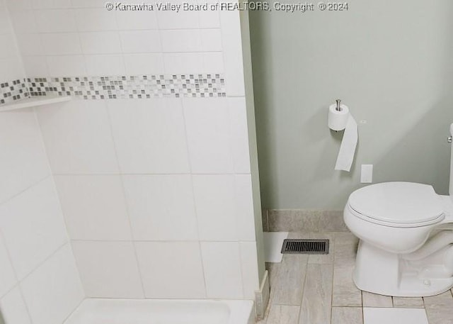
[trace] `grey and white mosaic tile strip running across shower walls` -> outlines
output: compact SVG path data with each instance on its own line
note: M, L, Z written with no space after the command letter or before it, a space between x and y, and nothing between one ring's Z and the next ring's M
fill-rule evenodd
M79 99L224 97L222 74L159 74L105 77L36 77L0 84L0 105L28 96Z

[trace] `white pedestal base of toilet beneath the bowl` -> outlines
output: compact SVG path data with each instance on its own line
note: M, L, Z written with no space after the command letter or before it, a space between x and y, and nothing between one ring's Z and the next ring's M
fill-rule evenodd
M453 287L452 276L426 276L423 262L408 262L401 255L386 252L362 240L352 279L360 290L387 296L434 296Z

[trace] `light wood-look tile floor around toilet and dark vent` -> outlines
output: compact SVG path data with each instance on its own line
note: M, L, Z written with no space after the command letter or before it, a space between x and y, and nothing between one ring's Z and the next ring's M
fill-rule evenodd
M266 263L270 301L258 324L364 324L363 307L424 308L429 324L453 324L452 291L401 298L357 289L352 269L358 239L351 233L292 232L288 238L328 238L330 252L284 255L281 263Z

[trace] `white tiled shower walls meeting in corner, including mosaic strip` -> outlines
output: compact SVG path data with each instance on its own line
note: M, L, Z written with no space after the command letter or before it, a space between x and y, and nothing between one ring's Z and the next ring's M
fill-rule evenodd
M253 300L239 13L1 0L0 16L0 110L73 97L0 112L6 324L62 323L86 297Z

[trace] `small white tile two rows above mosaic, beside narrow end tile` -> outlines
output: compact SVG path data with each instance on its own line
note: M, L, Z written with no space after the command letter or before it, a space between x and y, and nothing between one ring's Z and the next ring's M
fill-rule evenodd
M202 43L199 29L161 30L164 52L200 52Z

